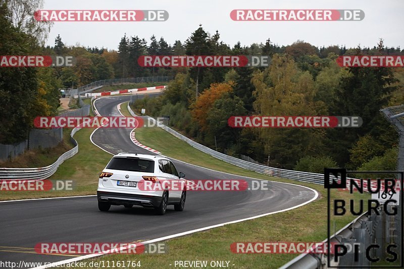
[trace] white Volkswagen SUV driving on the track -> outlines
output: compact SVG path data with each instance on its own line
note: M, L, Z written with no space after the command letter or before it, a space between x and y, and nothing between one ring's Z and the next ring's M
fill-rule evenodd
M157 214L163 215L167 205L174 205L176 211L182 211L186 189L144 190L139 183L159 184L162 180L168 180L181 184L181 181L185 181L184 177L185 174L178 173L174 164L165 156L119 153L112 157L99 175L98 208L108 211L111 205L128 208L141 205L155 208Z

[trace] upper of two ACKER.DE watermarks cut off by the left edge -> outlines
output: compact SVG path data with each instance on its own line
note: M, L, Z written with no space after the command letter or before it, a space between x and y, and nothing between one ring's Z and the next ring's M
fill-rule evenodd
M77 60L73 56L0 56L0 67L69 67L76 63Z

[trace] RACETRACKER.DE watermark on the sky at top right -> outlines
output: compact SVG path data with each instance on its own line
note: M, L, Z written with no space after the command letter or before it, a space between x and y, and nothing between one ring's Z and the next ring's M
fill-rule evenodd
M233 21L361 21L363 10L232 10Z

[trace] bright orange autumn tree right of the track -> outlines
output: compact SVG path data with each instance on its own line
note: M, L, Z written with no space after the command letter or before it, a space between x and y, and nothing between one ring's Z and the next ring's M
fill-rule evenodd
M199 95L191 106L192 119L198 123L201 130L208 130L207 116L214 102L226 92L233 91L233 83L213 83L210 88Z

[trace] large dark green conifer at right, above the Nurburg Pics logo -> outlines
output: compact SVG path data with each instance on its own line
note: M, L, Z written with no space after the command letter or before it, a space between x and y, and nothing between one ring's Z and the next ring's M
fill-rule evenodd
M379 43L379 48L382 54L382 43ZM358 46L357 53L360 51L362 49ZM396 137L379 113L379 110L388 104L390 93L396 89L396 79L391 68L351 67L347 70L349 76L342 77L329 111L336 116L359 116L363 125L361 128L328 130L330 140L335 145L333 156L340 165L349 163L349 149L360 136L371 133L377 139L387 131L388 137Z

